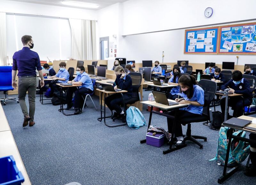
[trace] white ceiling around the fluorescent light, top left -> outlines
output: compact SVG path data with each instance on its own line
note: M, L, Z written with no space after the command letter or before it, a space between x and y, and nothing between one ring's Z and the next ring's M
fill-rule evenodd
M101 8L110 6L112 4L116 3L122 3L127 0L66 0L66 1L73 1L78 3L89 3L89 4L97 4L99 5L99 8L83 8L83 7L77 7L77 6L69 6L62 4L62 0L12 0L12 1L20 1L20 2L26 2L26 3L36 3L36 4L47 4L47 5L55 5L55 6L65 6L65 7L72 7L72 8L82 8L82 9L89 9L89 10L99 10Z

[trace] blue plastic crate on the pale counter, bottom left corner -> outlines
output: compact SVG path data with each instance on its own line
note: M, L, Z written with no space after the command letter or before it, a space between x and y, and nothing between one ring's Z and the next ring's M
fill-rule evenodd
M20 185L24 177L18 170L13 156L0 158L0 185Z

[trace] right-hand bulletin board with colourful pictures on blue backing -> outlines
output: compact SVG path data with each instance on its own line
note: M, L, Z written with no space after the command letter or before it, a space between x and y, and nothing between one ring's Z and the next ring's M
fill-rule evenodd
M221 26L218 54L256 54L256 22Z

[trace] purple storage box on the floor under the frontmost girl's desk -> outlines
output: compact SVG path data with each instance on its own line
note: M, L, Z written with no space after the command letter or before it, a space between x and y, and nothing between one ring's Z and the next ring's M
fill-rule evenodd
M164 133L156 132L156 135L153 136L154 131L150 131L146 135L146 143L148 145L161 147L164 144Z

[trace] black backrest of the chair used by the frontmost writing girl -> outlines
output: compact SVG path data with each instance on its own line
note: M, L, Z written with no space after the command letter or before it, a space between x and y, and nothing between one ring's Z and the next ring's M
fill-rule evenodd
M200 80L198 84L204 90L203 114L210 116L210 104L216 94L217 83L211 80Z

